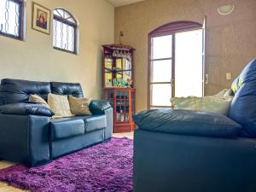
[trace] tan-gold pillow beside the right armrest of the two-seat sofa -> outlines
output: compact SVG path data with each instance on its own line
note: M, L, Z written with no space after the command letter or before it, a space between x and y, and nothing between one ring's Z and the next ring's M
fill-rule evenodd
M91 115L89 105L91 98L68 96L71 113L74 115Z

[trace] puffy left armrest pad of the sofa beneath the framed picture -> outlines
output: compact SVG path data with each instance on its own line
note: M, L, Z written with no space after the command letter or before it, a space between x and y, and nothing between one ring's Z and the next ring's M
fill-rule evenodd
M21 115L31 114L47 117L51 117L55 114L42 104L30 102L16 102L0 106L0 113Z

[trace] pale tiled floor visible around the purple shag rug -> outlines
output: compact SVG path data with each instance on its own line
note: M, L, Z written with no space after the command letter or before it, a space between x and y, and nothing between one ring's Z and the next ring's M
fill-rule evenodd
M133 132L128 133L115 133L113 137L128 137L133 139ZM0 169L4 169L9 166L13 166L14 164L5 160L0 160ZM6 183L0 182L0 192L24 192L24 190L15 189L13 187L8 186Z

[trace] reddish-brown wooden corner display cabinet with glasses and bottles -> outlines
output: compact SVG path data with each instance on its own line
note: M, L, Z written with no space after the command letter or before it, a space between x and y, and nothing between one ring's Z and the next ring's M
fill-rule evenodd
M103 99L113 107L113 132L134 131L133 52L127 45L103 45Z

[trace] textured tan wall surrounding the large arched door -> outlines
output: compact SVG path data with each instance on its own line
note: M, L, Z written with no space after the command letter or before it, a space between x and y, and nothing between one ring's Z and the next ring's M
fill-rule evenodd
M220 5L234 3L231 15L218 15ZM209 84L206 94L212 95L235 79L246 63L256 56L255 0L146 0L115 9L115 42L123 31L124 44L131 44L135 53L135 86L137 111L147 108L148 32L168 22L193 20L203 22L207 16L206 73ZM160 93L165 94L165 93Z

